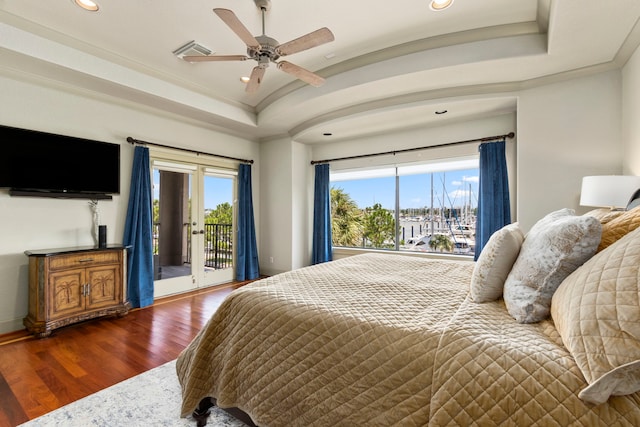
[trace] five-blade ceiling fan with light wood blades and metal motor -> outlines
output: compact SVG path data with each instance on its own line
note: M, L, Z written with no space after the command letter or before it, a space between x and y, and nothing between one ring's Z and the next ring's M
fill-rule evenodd
M254 0L254 2L262 11L262 35L255 37L251 35L231 10L213 9L215 14L247 45L247 55L185 56L183 59L189 62L246 61L247 59L253 59L258 65L251 71L251 77L245 89L247 92L255 92L258 89L270 62L276 64L278 69L312 86L321 86L324 83L324 78L319 75L288 61L276 61L282 56L291 55L333 41L333 33L328 28L323 27L297 39L280 44L277 40L267 36L264 31L264 14L271 8L271 0Z

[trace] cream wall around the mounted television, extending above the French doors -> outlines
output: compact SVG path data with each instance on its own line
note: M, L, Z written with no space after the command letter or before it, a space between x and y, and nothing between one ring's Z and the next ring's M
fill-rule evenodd
M117 100L7 77L0 77L0 93L0 124L121 144L121 194L99 202L110 243L121 243L124 232L133 159L127 136L255 159L259 169L257 143L158 111L139 111ZM12 142L1 143L6 147ZM258 173L254 172L253 182L256 211L260 206ZM23 328L28 309L24 251L93 245L92 220L88 200L10 197L7 189L0 189L0 334Z

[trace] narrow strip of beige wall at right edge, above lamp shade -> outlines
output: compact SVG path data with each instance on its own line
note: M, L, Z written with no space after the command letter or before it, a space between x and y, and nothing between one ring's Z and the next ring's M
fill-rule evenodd
M622 172L640 175L640 48L622 70Z

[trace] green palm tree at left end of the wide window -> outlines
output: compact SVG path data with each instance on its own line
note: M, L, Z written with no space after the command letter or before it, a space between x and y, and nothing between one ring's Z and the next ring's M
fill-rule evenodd
M331 187L331 234L334 246L359 246L362 242L362 213L342 188Z

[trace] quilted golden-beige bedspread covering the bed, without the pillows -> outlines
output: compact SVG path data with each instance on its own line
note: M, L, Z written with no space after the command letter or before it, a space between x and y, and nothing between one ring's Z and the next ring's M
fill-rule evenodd
M640 425L594 407L550 321L468 298L473 263L367 254L244 286L177 361L182 416L207 396L257 425Z

